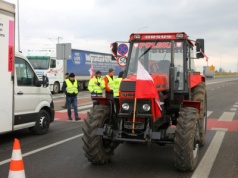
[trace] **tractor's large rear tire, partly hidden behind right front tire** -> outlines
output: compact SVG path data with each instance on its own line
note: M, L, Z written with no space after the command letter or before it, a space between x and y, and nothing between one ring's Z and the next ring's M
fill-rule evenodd
M200 101L200 116L199 116L199 127L200 127L200 146L205 145L206 130L207 130L207 95L206 85L204 82L195 86L192 89L192 100Z

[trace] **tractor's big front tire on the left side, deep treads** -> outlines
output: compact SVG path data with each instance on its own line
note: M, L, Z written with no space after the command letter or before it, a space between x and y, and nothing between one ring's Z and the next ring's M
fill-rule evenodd
M84 120L83 149L92 164L105 164L114 154L112 141L96 134L98 128L103 128L104 124L110 124L109 122L110 107L106 105L95 105Z

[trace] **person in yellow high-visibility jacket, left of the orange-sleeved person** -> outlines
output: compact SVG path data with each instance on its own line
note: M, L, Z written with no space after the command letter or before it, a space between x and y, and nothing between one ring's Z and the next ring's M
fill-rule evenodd
M95 76L89 80L88 90L91 92L91 98L93 101L93 106L95 106L96 101L93 100L94 97L102 97L102 90L105 88L104 80L101 78L101 72L97 71Z

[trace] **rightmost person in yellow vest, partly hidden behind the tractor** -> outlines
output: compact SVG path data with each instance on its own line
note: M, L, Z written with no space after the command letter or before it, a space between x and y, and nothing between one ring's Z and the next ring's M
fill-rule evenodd
M114 89L113 89L113 95L114 95L114 102L116 106L116 113L119 113L119 89L121 85L121 81L123 79L124 71L121 71L118 75L118 78L114 80Z

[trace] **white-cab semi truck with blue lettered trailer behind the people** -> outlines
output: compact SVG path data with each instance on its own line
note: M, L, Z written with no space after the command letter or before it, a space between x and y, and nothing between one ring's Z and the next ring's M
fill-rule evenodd
M79 82L81 89L86 89L90 80L90 69L96 72L100 70L102 76L108 73L109 68L115 70L118 75L122 70L116 61L112 61L112 55L94 51L85 51L72 49L71 55L66 62L56 57L45 55L29 55L27 56L39 79L43 75L49 78L49 87L51 92L59 93L64 82L64 74L73 72Z

